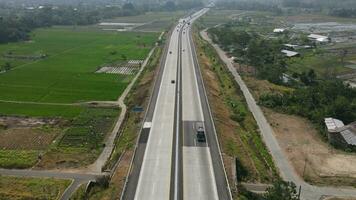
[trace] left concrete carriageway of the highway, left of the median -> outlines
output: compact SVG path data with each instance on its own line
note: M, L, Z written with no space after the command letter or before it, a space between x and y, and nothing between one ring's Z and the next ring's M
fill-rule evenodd
M136 200L167 200L170 197L176 100L176 84L172 80L176 81L177 76L178 37L179 32L174 31L138 180Z

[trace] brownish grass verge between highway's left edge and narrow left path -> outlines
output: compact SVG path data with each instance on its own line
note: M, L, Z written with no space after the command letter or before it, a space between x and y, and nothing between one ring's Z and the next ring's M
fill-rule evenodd
M110 170L120 158L118 167L113 174L108 188L95 186L89 192L87 198L90 200L107 200L117 199L120 196L126 176L131 164L132 156L134 155L135 142L141 128L144 113L133 112L133 107L148 106L148 101L153 88L153 81L157 75L157 66L159 65L163 47L157 47L154 54L149 60L146 68L138 78L128 97L125 99L128 106L128 112L121 130L121 134L116 141L116 146L110 160L106 163L105 168Z

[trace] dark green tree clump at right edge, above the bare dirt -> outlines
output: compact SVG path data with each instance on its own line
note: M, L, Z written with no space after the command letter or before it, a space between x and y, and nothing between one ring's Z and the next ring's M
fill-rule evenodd
M325 117L334 117L345 123L356 121L356 90L338 80L319 81L284 94L265 94L260 97L260 103L306 117L321 131L324 130Z

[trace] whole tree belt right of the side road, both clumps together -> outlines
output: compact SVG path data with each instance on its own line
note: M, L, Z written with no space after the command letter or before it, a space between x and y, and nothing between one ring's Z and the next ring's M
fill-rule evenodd
M283 41L265 39L233 25L208 30L213 41L236 56L240 64L253 66L256 77L293 88L292 92L262 95L259 103L278 111L296 114L313 122L325 135L324 118L334 117L350 123L356 121L356 89L333 77L318 79L314 70L293 73L285 83L286 58L281 54Z

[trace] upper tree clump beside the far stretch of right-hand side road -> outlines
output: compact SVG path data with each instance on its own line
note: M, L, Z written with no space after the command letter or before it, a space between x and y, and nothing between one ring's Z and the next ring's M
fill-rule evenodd
M281 53L282 41L266 39L254 32L236 30L230 25L211 28L208 32L215 43L237 57L240 63L253 66L258 78L276 84L283 82L286 63Z

